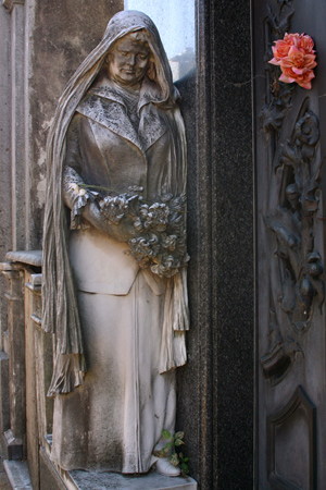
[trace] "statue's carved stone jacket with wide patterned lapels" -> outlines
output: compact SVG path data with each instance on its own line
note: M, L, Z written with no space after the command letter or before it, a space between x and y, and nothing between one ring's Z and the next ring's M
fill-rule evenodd
M136 193L154 203L171 192L168 172L176 166L172 161L176 150L165 111L146 105L140 112L137 132L117 93L108 87L91 90L70 126L66 166L86 185L106 187L112 195ZM139 268L131 256L124 254L127 245L91 228L72 233L70 246L79 290L128 294ZM146 278L155 294L164 292L164 281L159 277L147 271Z

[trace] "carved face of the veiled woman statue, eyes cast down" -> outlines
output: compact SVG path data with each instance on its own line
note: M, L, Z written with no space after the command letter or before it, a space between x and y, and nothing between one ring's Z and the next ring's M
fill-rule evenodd
M124 86L137 85L146 75L150 51L131 35L118 39L108 57L109 76Z

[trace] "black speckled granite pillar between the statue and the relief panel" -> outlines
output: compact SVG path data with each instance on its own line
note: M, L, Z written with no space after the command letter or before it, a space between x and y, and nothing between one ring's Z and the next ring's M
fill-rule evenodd
M188 138L188 366L178 430L202 490L253 488L254 241L250 1L199 1Z

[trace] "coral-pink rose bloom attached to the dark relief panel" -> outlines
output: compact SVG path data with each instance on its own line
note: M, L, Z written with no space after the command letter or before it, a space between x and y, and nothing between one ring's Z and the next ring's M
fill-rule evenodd
M311 81L315 77L313 69L317 65L314 41L306 34L285 34L273 46L274 58L271 64L280 66L280 82L291 84L296 82L300 87L311 88Z

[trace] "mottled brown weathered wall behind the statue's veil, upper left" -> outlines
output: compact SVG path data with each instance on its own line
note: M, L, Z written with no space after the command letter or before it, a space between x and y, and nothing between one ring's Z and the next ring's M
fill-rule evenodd
M46 184L46 140L64 86L101 39L122 0L28 2L29 182L28 245L40 248Z

